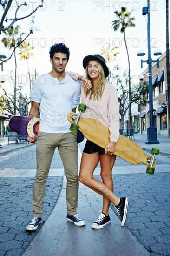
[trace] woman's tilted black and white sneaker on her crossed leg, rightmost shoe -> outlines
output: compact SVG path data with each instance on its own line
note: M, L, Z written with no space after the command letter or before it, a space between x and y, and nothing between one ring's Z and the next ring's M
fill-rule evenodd
M128 209L128 202L129 199L127 197L121 197L120 198L120 203L118 204L117 209L118 216L120 217L120 225L123 227L124 223L126 221L126 216L127 216L127 209Z

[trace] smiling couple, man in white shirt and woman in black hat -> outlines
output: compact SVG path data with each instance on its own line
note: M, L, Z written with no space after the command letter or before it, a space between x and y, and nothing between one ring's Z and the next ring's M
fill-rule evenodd
M82 117L95 118L98 114L98 121L108 126L110 130L110 142L105 149L87 140L81 159L79 181L103 195L103 208L98 219L92 224L92 228L101 229L111 222L108 213L110 202L115 205L121 226L124 226L128 198L119 198L113 194L111 176L116 160L116 155L111 154L119 138L118 95L116 88L105 79L109 74L105 59L100 55L86 56L83 59L85 78L73 72L65 72L70 52L64 43L52 45L49 53L52 71L36 79L31 90L32 105L29 116L38 117L40 108L41 121L38 135L27 138L30 143L37 141L37 172L33 184L33 218L26 225L26 230L36 230L42 222L46 179L56 147L58 147L67 179L66 219L77 226L85 225L84 219L77 213L77 134L70 132L70 123L67 120L69 112L76 112L80 100L80 89L81 102L87 106ZM42 156L42 152L46 157ZM93 172L99 161L103 182L93 178Z

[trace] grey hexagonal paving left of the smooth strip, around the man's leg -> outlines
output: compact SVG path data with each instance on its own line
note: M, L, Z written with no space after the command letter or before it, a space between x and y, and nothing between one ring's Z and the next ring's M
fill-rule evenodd
M13 171L35 169L35 145L5 152L0 155L1 168ZM54 155L51 168L62 168L58 153ZM0 179L0 256L20 256L33 240L39 227L34 232L26 232L26 223L33 216L31 198L33 177L10 177ZM43 224L52 212L62 190L63 176L48 177L43 208Z

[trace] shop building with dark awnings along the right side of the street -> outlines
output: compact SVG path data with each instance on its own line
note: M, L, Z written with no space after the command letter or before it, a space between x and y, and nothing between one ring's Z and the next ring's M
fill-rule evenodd
M144 70L139 78L143 76L141 82L148 81L148 69ZM153 116L154 126L157 128L157 134L168 135L168 83L166 77L166 53L159 57L159 68L157 63L152 64L152 93L153 93ZM148 92L143 95L149 99ZM138 112L132 113L133 125L138 122L140 133L144 133L149 128L149 103L146 106L140 105ZM136 121L136 122L135 122Z

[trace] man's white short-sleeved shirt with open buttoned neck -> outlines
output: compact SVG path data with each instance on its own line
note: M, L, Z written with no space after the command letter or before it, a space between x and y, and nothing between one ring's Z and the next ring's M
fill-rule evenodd
M67 114L79 104L80 83L67 74L60 83L49 74L41 75L33 83L31 101L40 103L39 131L68 133Z

